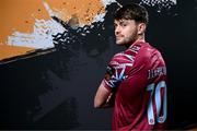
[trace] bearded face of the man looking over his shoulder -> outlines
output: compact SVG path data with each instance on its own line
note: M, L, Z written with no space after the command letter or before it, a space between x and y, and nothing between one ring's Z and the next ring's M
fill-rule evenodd
M117 45L132 44L138 39L138 24L135 20L115 20L114 25Z

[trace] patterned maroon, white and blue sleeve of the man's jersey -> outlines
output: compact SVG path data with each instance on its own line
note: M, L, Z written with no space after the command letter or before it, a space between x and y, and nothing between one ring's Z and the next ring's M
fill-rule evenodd
M144 55L139 55L140 45L135 45L124 52L115 55L107 66L103 85L113 91L128 76L139 72L144 67ZM144 53L144 52L143 52ZM136 57L138 59L136 60Z

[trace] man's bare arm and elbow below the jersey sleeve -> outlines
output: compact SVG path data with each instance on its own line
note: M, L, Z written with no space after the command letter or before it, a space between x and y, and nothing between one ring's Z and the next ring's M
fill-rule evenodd
M100 85L94 97L94 107L104 107L111 96L111 91L108 91L103 84Z

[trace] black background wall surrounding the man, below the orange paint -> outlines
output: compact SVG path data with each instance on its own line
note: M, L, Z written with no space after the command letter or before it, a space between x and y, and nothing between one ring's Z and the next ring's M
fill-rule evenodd
M197 1L177 1L171 9L146 7L147 41L167 66L170 128L185 129L197 123ZM54 51L1 61L0 129L111 129L112 109L94 109L93 98L107 61L124 49L114 43L116 9L108 5L105 21L94 23L84 37L70 28L69 45L59 34L65 43L55 36Z

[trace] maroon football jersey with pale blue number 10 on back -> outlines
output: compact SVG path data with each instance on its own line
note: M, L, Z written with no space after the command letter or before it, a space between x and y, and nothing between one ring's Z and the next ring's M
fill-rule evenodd
M113 130L166 128L166 68L161 53L137 41L115 55L103 85L115 92Z

